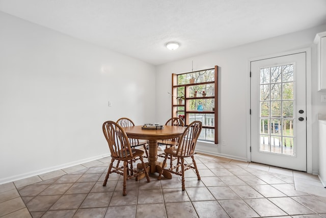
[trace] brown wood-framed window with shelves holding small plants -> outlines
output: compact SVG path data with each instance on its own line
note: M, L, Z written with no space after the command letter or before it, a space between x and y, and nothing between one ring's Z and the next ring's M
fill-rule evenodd
M172 117L183 118L186 126L193 120L201 120L205 135L203 140L214 143L218 143L217 109L218 66L172 74Z

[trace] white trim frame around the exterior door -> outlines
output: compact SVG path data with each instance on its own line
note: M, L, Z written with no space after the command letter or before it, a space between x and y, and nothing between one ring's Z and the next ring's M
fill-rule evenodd
M251 62L259 61L263 59L269 58L276 58L279 56L286 56L286 55L293 55L297 53L306 53L306 110L307 110L307 173L312 174L312 105L311 105L311 47L306 47L300 50L294 50L289 52L283 52L273 55L266 55L266 56L259 56L256 58L248 59L248 108L250 111L251 105L251 79L250 79L250 69L251 69ZM251 115L247 113L247 160L251 162Z

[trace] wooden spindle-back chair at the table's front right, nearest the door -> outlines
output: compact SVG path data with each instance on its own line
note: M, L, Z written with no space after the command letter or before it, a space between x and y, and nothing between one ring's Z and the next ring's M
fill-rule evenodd
M194 159L194 154L195 154L197 139L200 135L202 128L203 128L202 122L200 121L194 121L193 123L189 124L189 126L187 126L187 128L184 130L183 134L181 135L178 145L168 148L164 151L165 159L163 161L162 166L165 166L169 155L172 155L172 157L177 157L178 159L175 165L173 165L170 168L167 168L166 170L170 173L181 176L183 191L185 190L184 172L187 169L191 169L191 168L195 169L197 178L198 180L200 180L200 175L196 165L196 161ZM185 163L184 158L187 157L191 157L193 162ZM181 166L181 171L179 171L180 166ZM161 179L163 171L164 168L162 167L161 172L159 173L157 178L158 180Z

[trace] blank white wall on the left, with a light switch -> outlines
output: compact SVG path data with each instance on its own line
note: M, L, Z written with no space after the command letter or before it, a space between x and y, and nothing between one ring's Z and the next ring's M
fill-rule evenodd
M107 155L105 120L155 121L154 66L2 12L0 31L0 184Z

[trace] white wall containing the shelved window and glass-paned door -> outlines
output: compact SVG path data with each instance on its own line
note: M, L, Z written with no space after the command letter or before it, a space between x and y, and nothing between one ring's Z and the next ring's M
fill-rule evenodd
M249 60L311 47L312 59L312 171L318 172L318 122L317 114L326 113L325 103L320 102L316 78L316 33L326 30L320 26L309 30L262 40L224 51L212 52L156 67L156 120L164 123L171 116L171 74L219 66L219 141L220 144L199 142L196 150L210 154L250 160L249 139ZM239 33L241 37L241 33ZM180 46L179 49L182 49ZM177 51L176 51L177 52ZM226 146L222 146L226 140ZM309 159L309 158L308 158Z

